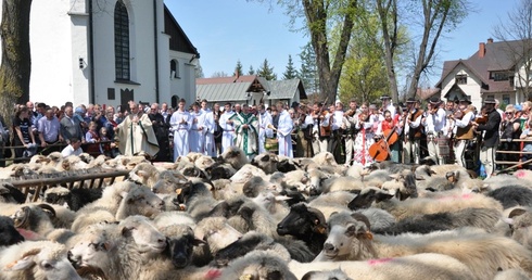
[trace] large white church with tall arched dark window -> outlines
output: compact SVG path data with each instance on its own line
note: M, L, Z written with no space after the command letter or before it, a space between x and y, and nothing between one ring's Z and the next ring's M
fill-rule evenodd
M31 101L167 102L195 94L200 53L163 0L34 1Z

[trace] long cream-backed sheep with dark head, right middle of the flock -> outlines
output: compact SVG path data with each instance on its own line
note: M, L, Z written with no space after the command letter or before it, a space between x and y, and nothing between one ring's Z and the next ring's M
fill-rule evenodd
M378 202L381 200L380 202ZM503 206L494 199L483 194L468 193L461 195L442 196L439 199L415 199L398 201L378 191L360 193L350 202L351 209L364 208L376 201L375 207L384 209L396 219L404 219L418 214L434 214L442 212L457 212L465 208L492 208L502 212Z

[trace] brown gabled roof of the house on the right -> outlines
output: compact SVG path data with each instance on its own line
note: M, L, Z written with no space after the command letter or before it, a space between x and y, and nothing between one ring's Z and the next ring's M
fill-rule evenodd
M532 40L499 41L480 43L484 48L484 55L480 55L481 48L467 60L445 61L441 79L436 87L441 88L443 80L453 71L464 65L474 74L482 82L482 92L507 92L514 91L508 80L490 79L490 72L515 72L515 66L522 59L522 53L532 50Z

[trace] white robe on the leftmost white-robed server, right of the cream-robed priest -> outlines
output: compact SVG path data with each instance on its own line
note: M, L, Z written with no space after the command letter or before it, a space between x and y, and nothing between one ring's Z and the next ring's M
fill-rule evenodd
M181 122L185 120L185 124ZM170 117L172 130L174 130L174 162L178 156L185 156L190 152L189 130L192 126L192 117L189 112L174 112Z

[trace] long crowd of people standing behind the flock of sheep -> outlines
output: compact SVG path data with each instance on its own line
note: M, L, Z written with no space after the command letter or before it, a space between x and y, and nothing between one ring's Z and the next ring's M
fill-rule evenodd
M404 104L392 104L385 96L380 100L379 104L351 100L344 109L341 102L210 107L207 100L187 104L181 99L175 110L166 103L134 101L127 109L27 102L16 106L11 129L0 116L0 142L16 147L15 162L54 151L110 157L143 153L153 161L170 162L189 152L217 156L233 145L252 160L273 150L267 143L275 142L275 150L288 157L328 151L339 163L365 166L383 160L431 160L469 169L482 166L487 177L495 171L496 155L508 163L532 158L532 142L512 141L532 140L532 102L509 104L503 112L498 101L490 98L480 110L468 97L447 102L431 98L426 109L415 99ZM11 149L4 154L7 150Z

